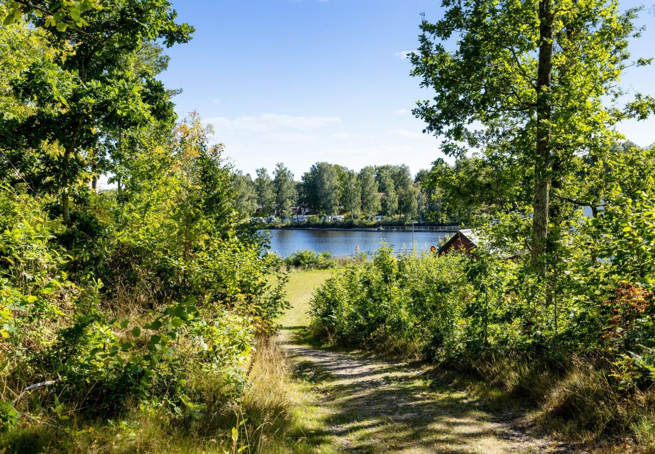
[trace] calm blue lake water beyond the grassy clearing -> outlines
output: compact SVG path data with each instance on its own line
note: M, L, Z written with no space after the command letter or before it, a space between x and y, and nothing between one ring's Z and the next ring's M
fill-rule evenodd
M327 251L332 255L351 255L355 247L360 251L375 251L386 241L396 251L411 249L412 232L353 232L349 230L269 230L271 251L288 257L298 249ZM415 232L414 241L419 251L436 246L444 232Z

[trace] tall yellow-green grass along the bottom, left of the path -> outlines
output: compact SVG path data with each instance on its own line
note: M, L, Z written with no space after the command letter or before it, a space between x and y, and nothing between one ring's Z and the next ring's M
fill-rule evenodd
M302 422L293 414L301 390L271 337L257 339L248 383L237 400L225 400L225 382L206 371L189 371L193 413L171 414L162 402L132 402L111 422L90 420L75 405L33 408L23 426L0 434L0 452L20 453L269 453L290 452L291 432ZM30 396L45 403L43 396ZM54 404L54 402L51 402ZM193 414L192 414L193 413ZM241 451L239 451L241 449Z

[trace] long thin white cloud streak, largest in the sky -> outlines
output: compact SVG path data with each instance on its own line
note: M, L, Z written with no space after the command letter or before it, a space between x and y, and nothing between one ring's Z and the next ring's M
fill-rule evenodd
M283 129L297 131L313 131L326 125L340 123L340 117L305 117L265 113L259 117L246 116L229 119L227 117L212 117L204 121L211 123L217 133L241 132L271 133Z

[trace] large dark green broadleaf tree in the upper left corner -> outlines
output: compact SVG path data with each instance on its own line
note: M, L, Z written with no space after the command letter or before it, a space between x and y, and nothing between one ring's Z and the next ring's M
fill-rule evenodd
M69 9L69 14L77 13ZM106 134L144 127L153 117L174 119L169 93L151 73L135 70L135 55L144 43L161 40L170 47L193 33L191 26L175 22L167 0L107 0L102 9L86 10L85 18L81 31L53 28L47 15L32 17L57 52L31 64L12 87L18 99L34 106L28 117L0 121L0 132L15 138L12 165L38 161L44 189L60 196L65 224L71 193L83 191L79 182L87 180L92 150Z

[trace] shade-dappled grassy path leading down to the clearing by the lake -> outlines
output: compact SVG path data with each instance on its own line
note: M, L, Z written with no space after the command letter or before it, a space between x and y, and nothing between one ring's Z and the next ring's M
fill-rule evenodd
M512 428L466 392L439 382L426 366L313 348L299 339L311 291L329 272L290 276L291 309L279 342L313 402L299 409L311 430L302 451L362 453L530 453L559 451Z

